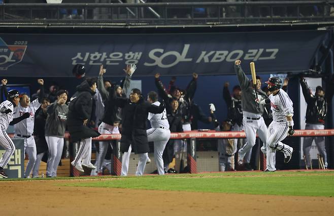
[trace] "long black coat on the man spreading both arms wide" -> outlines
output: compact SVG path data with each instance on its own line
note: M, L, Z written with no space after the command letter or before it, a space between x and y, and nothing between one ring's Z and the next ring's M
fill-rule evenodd
M129 99L119 98L114 95L115 104L122 108L122 138L121 152L126 152L132 146L135 154L149 151L146 122L148 113L162 113L164 103L155 106L141 98L137 103L131 103Z

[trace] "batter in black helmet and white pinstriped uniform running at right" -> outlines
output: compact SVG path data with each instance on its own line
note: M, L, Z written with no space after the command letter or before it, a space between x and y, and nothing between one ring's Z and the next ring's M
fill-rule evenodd
M284 153L284 163L289 162L292 156L293 148L281 141L294 134L293 107L288 94L281 89L282 81L279 77L270 77L265 83L268 83L268 90L271 95L264 100L256 99L256 102L261 105L271 104L273 121L269 125L266 155L267 169L265 171L275 171L275 163L272 162L276 150Z

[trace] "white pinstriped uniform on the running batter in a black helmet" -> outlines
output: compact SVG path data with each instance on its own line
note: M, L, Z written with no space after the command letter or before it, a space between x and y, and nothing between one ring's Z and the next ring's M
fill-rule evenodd
M286 116L293 115L293 103L290 100L288 94L282 89L276 94L269 96L271 102L271 110L273 112L273 121L269 125L269 136L267 139L267 169L275 171L275 163L273 158L276 154L275 150L284 153L284 156L291 155L293 148L283 144L289 131L289 126L286 120Z

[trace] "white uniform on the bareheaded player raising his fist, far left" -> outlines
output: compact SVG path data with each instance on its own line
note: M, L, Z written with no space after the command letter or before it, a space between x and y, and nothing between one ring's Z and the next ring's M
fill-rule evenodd
M23 119L19 123L14 125L14 136L16 138L23 138L24 139L24 152L28 154L29 160L27 163L27 167L24 172L25 178L30 178L30 173L32 168L34 168L35 161L36 161L36 143L34 136L34 122L35 122L35 113L40 108L41 103L38 99L32 101L29 106L22 107L20 104L15 107L13 117L17 118L23 115L24 113L28 112L30 114L29 118Z

